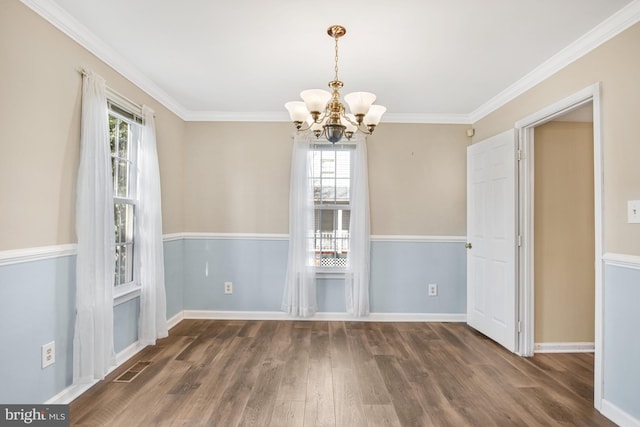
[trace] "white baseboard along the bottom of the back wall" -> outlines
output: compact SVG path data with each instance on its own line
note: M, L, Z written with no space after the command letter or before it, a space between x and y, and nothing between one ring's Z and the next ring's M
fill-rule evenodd
M371 313L353 317L347 313L318 312L313 317L291 317L281 311L185 310L185 319L224 320L306 320L350 322L466 322L465 313Z

